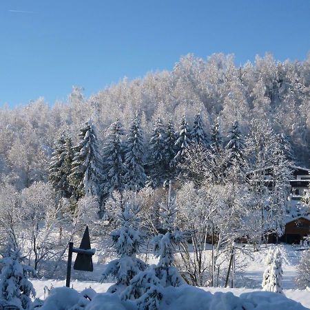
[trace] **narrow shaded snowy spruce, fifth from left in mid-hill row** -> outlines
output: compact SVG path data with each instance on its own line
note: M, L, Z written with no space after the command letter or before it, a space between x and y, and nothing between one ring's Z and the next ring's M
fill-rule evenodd
M150 185L158 187L165 180L165 129L161 118L156 118L154 129L149 140Z

